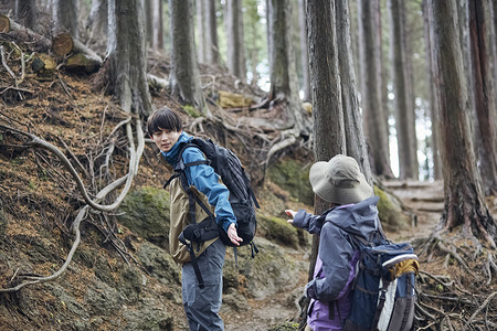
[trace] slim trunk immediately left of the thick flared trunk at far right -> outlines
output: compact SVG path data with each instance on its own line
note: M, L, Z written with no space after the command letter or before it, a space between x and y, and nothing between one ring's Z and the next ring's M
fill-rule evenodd
M432 136L430 139L430 147L432 150L432 161L433 161L433 179L441 180L442 179L442 159L440 154L440 132L438 132L438 118L436 114L436 100L434 93L434 68L432 62L432 46L430 43L430 22L427 15L426 1L423 0L422 11L423 11L423 20L424 20L424 42L425 42L425 62L426 62L426 76L427 76L427 86L429 86L429 98L430 98L430 120L431 120L431 131Z

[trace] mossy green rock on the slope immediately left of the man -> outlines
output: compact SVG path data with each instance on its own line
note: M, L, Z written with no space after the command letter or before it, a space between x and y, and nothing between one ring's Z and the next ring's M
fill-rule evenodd
M145 186L129 192L117 221L145 239L169 249L169 192Z

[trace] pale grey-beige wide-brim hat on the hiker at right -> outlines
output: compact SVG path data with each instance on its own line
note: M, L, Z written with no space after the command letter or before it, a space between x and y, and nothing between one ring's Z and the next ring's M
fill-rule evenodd
M337 154L328 162L316 162L309 171L313 191L325 201L336 204L357 203L372 195L353 158Z

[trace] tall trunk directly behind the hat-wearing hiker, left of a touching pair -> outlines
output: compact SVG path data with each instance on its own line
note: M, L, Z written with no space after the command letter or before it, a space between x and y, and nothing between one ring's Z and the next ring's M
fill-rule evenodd
M329 1L307 0L309 32L309 72L314 117L314 153L316 161L328 161L346 152L346 134L341 103L340 75L336 38L335 6ZM321 214L330 204L315 196L315 214ZM319 247L319 237L313 235L308 279L313 279ZM306 302L308 305L308 301ZM306 323L307 305L303 309L300 327ZM299 329L303 330L303 329Z

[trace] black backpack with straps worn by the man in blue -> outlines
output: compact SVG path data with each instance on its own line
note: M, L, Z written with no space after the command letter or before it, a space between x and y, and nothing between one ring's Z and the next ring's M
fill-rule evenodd
M189 147L199 148L204 153L207 160L184 163L182 160L182 153ZM224 185L230 191L230 204L233 209L233 213L236 216L236 232L237 235L243 239L243 242L240 243L240 246L251 245L252 257L254 257L255 253L258 252L257 247L253 243L253 238L257 229L254 205L257 209L260 207L260 205L251 188L250 179L246 175L245 170L240 162L240 159L231 150L219 146L211 139L193 138L181 146L178 153L178 162L175 168L175 173L163 185L163 188L166 189L175 178L179 178L181 188L184 190L184 192L188 193L190 224L183 229L179 239L181 243L189 246L193 267L195 267L195 263L193 246L191 245L191 243L201 243L220 236L220 238L226 246L237 247L230 241L224 228L215 223L215 217L212 214L211 210L205 206L200 197L190 190L184 170L188 167L198 164L211 166L214 169L214 172L221 177ZM198 203L209 215L208 218L203 220L200 223L195 222L195 203ZM188 243L186 239L190 241L190 243ZM198 278L199 276L200 273L197 274ZM201 276L199 278L199 284L202 284Z

